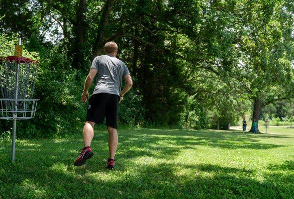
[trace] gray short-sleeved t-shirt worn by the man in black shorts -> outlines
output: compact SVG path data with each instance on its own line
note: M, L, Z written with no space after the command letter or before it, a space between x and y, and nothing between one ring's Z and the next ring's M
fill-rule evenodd
M98 69L97 85L93 95L108 93L119 96L122 77L130 74L126 65L116 57L100 55L94 58L91 68Z

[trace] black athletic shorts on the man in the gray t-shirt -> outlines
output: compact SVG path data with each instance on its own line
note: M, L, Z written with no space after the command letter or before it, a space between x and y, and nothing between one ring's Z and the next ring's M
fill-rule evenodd
M119 96L114 94L94 94L89 99L86 121L102 124L106 117L106 125L117 129L117 111Z

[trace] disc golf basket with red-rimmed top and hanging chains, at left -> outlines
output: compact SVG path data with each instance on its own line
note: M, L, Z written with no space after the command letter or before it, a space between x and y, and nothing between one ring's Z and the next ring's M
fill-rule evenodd
M19 46L20 42L21 39ZM11 162L14 162L16 120L34 118L36 113L38 100L32 97L38 64L21 56L0 58L0 119L13 120Z

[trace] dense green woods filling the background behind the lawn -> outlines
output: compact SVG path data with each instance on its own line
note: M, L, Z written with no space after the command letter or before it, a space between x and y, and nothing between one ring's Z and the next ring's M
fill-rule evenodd
M118 44L134 78L120 125L227 129L245 115L249 123L294 121L293 0L0 5L1 56L21 36L26 55L41 62L37 119L19 122L19 136L62 135L84 121L84 79L107 41ZM7 132L11 125L0 122Z

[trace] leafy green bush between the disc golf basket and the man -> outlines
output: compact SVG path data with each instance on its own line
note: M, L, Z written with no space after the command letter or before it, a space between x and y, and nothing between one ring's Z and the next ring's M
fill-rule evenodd
M40 99L36 117L29 123L23 123L21 135L52 137L76 130L87 110L86 104L80 100L82 88L76 81L74 70L44 70L36 83L35 98Z

